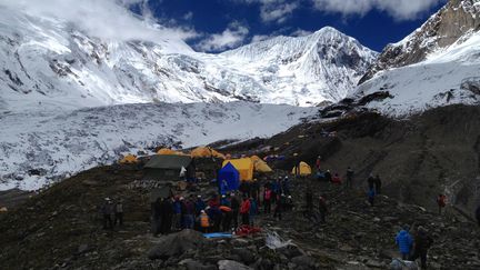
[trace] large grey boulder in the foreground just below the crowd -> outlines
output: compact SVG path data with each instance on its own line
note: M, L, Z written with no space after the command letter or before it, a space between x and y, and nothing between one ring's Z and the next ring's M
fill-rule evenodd
M194 230L182 230L160 238L157 246L150 249L148 257L151 260L168 260L170 257L198 249L207 242L208 240L203 238L202 233Z

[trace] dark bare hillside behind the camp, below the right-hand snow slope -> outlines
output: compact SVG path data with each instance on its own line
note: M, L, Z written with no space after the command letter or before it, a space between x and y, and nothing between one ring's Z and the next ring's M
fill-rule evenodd
M300 124L271 139L246 142L251 144L239 149L284 154L287 160L274 166L286 170L292 168L293 153L310 164L320 154L324 170L344 176L351 166L358 187L366 187L368 176L378 173L386 194L392 198L434 210L436 197L446 193L451 206L473 217L480 204L479 113L477 106L449 106L392 120L351 111L327 122Z

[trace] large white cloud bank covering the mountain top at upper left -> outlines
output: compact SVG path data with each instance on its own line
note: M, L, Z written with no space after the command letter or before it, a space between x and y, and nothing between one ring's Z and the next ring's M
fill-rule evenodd
M132 4L140 4L147 19L132 14L126 8ZM72 22L89 34L103 39L160 41L166 37L182 40L198 37L198 33L189 28L167 28L153 23L146 7L144 0L2 0L0 2L0 8Z

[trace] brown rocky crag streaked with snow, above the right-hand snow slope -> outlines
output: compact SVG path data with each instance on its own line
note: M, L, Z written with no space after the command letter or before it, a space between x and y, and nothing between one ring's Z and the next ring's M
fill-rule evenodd
M450 0L402 41L387 46L359 84L382 70L421 62L432 52L463 42L479 30L479 14L480 3L477 0Z

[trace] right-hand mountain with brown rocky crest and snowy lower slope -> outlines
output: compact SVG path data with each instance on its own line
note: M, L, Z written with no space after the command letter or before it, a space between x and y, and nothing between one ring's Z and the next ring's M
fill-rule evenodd
M356 98L387 92L367 104L406 117L454 103L480 103L480 1L450 0L421 28L379 56ZM386 97L386 94L383 94Z

